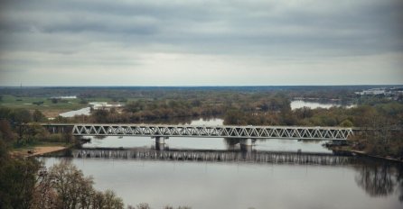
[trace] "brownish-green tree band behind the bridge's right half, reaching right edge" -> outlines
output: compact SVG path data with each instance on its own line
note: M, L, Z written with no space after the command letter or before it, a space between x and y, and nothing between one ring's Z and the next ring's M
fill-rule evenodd
M403 125L403 104L358 105L351 108L331 107L329 109L309 107L279 111L245 111L233 109L224 116L226 124L252 125L303 125L372 127L375 121L383 120L390 126Z

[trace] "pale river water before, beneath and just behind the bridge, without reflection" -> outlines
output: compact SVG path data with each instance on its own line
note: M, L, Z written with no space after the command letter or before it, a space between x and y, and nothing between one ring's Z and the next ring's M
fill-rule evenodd
M194 120L218 125L222 120ZM233 141L232 141L233 142ZM211 150L240 153L225 139L170 138L167 150ZM323 142L256 141L252 152L315 152L331 155ZM83 149L155 150L145 137L92 138ZM294 154L299 156L299 154ZM298 157L299 158L299 157ZM324 157L328 158L328 157ZM133 158L42 158L47 167L70 160L99 190L112 189L125 204L148 203L152 208L189 205L192 208L402 208L402 165L355 159L349 163L303 163L248 160L175 160Z

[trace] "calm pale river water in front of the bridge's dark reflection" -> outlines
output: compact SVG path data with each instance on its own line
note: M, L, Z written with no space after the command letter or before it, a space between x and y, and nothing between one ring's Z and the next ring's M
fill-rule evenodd
M61 159L46 159L52 166ZM401 208L401 169L389 165L70 159L125 204L192 208ZM400 167L401 168L401 167ZM400 177L400 179L398 179ZM400 199L400 200L399 200Z

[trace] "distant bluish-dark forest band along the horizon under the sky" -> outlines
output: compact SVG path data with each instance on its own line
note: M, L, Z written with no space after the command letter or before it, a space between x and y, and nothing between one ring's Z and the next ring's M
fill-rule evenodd
M0 87L0 95L52 97L77 95L81 98L205 99L211 95L284 93L291 97L342 99L354 92L384 86L122 86L122 87Z

